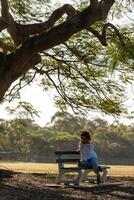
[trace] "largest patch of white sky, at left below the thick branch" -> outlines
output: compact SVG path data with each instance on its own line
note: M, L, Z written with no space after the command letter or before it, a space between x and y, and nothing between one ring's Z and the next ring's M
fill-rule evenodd
M11 103L4 103L0 106L0 118L1 119L13 119L13 115L9 115L6 112L6 106L15 108L17 101L26 101L33 105L34 109L39 111L39 117L35 117L35 122L40 126L46 125L51 121L51 117L58 109L53 102L53 93L44 92L36 83L32 86L27 86L21 90L21 98Z

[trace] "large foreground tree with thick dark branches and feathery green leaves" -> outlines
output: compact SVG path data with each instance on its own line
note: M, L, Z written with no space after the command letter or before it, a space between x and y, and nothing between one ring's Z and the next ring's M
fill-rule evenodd
M84 0L53 10L48 0L1 0L0 100L40 74L59 105L120 114L123 83L133 79L133 27L119 30L108 17L132 3Z

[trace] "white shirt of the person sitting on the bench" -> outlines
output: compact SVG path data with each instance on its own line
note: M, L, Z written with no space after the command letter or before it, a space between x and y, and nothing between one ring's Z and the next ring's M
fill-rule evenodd
M80 150L80 156L81 160L88 160L90 158L97 158L97 154L94 151L94 145L91 143L83 144L79 143L79 150Z

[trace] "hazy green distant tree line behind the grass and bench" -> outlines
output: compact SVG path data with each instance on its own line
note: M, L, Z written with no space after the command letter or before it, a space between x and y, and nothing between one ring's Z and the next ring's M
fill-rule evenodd
M82 130L92 134L101 163L134 164L134 125L108 124L57 112L45 127L30 118L0 120L0 160L54 162L55 150L76 150Z

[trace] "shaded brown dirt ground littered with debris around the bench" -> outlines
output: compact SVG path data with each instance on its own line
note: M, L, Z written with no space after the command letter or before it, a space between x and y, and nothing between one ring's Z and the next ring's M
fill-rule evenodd
M47 187L55 177L41 174L14 173L1 175L0 200L134 200L134 178L109 177L105 185L86 189Z

